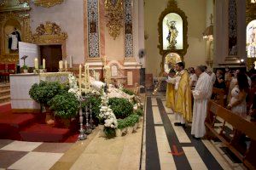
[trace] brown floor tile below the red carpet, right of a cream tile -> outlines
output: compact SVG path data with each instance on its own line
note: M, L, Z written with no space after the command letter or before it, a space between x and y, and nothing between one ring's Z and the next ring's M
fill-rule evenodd
M64 153L73 144L71 143L44 143L39 145L35 150L32 151L37 151L37 152L50 152L50 153Z

